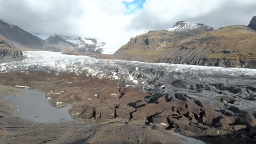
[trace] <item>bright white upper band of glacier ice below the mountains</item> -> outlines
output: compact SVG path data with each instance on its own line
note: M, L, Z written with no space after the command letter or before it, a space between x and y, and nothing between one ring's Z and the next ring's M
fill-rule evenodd
M201 77L200 80L206 77L207 79L214 79L214 77L223 77L225 79L227 77L232 77L233 79L234 77L235 79L240 79L240 77L256 78L256 69L96 59L88 56L72 56L49 51L25 51L22 61L0 64L0 73L29 70L53 74L75 73L99 78L121 79L130 81L134 85L146 83L160 76L172 76L173 79L198 76ZM160 71L162 75L152 73L154 70Z

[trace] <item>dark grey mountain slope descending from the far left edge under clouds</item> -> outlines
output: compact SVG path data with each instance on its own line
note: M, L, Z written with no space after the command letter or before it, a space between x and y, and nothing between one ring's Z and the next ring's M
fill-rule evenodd
M0 34L14 44L21 44L22 46L32 47L34 49L42 49L45 45L44 40L8 21L0 20Z

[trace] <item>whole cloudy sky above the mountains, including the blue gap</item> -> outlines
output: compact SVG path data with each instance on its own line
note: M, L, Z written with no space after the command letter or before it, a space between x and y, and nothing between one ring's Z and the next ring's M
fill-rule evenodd
M0 19L28 32L96 38L113 53L131 37L176 21L248 25L255 0L0 0Z

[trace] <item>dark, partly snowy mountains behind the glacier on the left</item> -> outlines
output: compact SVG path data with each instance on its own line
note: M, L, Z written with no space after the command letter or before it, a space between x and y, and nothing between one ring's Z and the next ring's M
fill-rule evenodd
M105 43L92 38L59 36L57 34L43 40L4 20L0 20L0 35L8 39L19 50L102 53L102 47L105 45Z

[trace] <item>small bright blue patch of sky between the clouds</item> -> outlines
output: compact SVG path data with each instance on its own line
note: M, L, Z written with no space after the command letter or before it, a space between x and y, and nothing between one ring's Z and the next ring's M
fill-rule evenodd
M123 2L123 4L126 7L125 14L132 14L135 13L137 10L140 10L143 8L143 4L146 2L146 0L133 0L132 2Z

